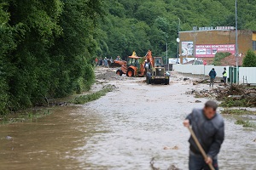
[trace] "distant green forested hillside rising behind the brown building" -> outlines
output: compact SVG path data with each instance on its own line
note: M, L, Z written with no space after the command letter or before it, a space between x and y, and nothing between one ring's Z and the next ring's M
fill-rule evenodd
M235 0L108 0L107 17L100 26L99 56L128 56L132 50L143 56L177 55L177 27L235 26ZM238 1L239 29L256 30L256 1Z

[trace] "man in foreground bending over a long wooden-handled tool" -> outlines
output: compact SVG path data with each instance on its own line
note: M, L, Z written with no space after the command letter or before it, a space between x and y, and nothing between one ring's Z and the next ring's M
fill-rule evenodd
M203 109L194 109L183 121L185 127L192 126L195 136L208 156L204 160L195 140L190 137L189 170L209 169L207 164L212 164L218 170L217 156L224 141L224 120L216 113L217 108L217 103L209 100Z

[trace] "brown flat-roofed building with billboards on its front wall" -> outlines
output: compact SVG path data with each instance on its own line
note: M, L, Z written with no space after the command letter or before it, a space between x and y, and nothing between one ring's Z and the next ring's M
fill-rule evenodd
M233 26L218 26L214 29L201 27L199 30L195 28L194 31L180 31L179 37L181 62L185 57L211 62L218 52L236 53L236 30ZM246 54L248 49L256 51L256 31L239 30L238 54Z

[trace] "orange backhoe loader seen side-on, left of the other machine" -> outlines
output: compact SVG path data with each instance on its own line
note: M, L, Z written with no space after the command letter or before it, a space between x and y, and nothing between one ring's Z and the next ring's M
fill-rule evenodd
M145 75L144 59L138 57L135 52L128 57L128 61L117 60L114 61L121 65L121 68L116 71L116 74L122 76L125 74L127 77L143 77ZM142 62L143 61L143 62Z

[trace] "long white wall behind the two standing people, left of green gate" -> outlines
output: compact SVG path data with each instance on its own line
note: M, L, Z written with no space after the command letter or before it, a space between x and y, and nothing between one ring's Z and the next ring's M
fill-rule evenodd
M177 71L180 73L192 74L192 75L205 75L208 76L209 72L212 68L215 69L217 73L217 77L223 77L222 73L224 71L224 67L227 69L228 75L230 66L214 66L214 65L172 65L173 71Z

